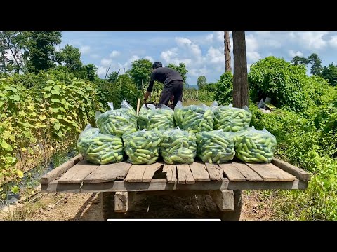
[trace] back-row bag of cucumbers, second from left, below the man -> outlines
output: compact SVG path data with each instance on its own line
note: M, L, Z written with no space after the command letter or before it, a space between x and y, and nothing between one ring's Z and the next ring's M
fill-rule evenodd
M173 110L166 105L156 108L153 104L145 105L139 111L137 118L140 130L168 130L174 128Z

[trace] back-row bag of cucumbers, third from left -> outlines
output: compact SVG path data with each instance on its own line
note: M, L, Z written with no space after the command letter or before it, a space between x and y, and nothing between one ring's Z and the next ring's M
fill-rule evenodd
M179 101L174 108L174 120L182 130L201 132L213 130L213 111L205 104L183 106Z

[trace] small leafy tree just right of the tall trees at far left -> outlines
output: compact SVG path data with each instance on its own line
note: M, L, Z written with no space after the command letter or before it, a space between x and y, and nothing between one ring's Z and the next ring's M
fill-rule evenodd
M64 63L71 71L81 71L81 52L79 48L74 48L72 45L65 45L60 52L56 53L58 64Z

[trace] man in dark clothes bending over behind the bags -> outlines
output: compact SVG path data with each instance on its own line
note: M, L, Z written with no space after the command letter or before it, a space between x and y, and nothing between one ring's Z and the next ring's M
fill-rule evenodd
M168 105L169 100L173 96L174 109L177 102L181 101L181 99L183 98L183 78L180 76L180 73L169 67L163 67L163 64L161 64L161 62L154 62L152 64L150 84L144 94L144 103L146 102L147 97L149 97L152 92L154 80L157 80L158 82L164 84L158 107L160 108L161 104Z

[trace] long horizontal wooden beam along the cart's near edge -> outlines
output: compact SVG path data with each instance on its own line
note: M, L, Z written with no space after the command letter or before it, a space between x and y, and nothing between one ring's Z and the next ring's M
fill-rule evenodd
M235 181L228 179L223 181L204 181L194 184L167 183L166 179L152 179L150 183L128 183L125 181L113 181L106 183L81 183L58 184L48 183L41 185L44 193L100 193L100 192L140 192L140 191L172 191L172 190L305 190L308 188L308 181Z

